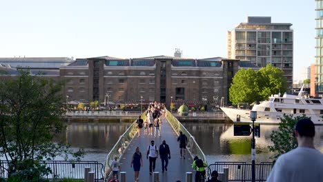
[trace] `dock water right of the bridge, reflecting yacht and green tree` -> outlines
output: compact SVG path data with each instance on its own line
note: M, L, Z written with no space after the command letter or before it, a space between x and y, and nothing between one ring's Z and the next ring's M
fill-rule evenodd
M195 136L197 143L206 154L208 162L251 161L251 136L233 136L233 124L184 123ZM270 135L278 125L261 125L261 137L256 137L257 162L272 161L268 145ZM315 148L323 152L323 126L316 126Z

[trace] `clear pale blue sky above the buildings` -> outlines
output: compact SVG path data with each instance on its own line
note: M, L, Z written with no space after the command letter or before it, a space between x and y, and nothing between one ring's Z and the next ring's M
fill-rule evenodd
M315 62L314 0L2 0L0 57L226 57L247 16L293 23L294 79Z

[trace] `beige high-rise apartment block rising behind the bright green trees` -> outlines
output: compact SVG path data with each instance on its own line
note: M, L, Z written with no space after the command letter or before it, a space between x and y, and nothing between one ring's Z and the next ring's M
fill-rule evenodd
M271 23L271 17L247 17L228 31L228 59L250 60L260 67L271 64L284 71L293 88L293 30L291 23Z

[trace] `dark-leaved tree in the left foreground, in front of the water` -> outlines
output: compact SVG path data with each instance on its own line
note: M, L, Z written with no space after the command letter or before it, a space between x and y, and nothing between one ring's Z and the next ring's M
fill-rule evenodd
M17 77L1 77L0 154L10 163L10 174L31 171L39 160L70 152L52 141L63 129L62 86L21 70Z

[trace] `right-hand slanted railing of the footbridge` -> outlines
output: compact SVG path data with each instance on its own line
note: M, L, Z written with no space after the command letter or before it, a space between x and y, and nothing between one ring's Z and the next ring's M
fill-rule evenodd
M190 152L190 156L192 156L192 159L194 156L199 156L199 159L202 159L203 161L206 161L206 157L202 149L199 147L199 144L195 141L195 138L186 128L184 125L182 125L181 122L177 120L176 117L172 113L170 113L168 110L166 110L166 119L172 126L172 128L175 130L177 136L179 136L179 131L182 131L183 134L187 136L188 143L187 143L187 150ZM206 173L208 174L208 173Z

